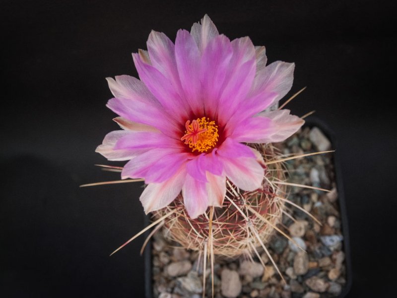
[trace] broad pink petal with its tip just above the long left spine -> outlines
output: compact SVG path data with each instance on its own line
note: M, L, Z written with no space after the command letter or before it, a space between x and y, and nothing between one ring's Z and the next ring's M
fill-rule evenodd
M122 179L143 178L145 183L160 183L175 175L191 154L175 149L151 149L132 158L123 168Z

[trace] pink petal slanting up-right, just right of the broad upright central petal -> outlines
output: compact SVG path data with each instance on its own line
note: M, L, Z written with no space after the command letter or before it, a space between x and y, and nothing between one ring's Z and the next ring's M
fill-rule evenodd
M233 56L219 98L219 122L225 125L230 116L239 109L251 89L255 76L255 48L249 37L231 42Z

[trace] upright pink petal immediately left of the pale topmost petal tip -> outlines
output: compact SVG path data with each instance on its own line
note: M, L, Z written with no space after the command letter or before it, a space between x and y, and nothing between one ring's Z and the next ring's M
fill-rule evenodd
M199 81L200 53L192 35L179 30L175 40L175 56L181 85L192 111L196 115L204 114Z

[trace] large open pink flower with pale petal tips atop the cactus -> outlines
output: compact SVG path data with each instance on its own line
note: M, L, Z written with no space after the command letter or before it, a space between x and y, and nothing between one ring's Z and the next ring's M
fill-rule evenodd
M129 160L122 178L143 178L145 213L182 191L191 218L222 205L226 179L242 190L262 186L263 160L244 143L280 142L304 123L289 110L263 112L291 88L294 64L266 65L265 47L248 37L230 41L205 15L175 44L152 31L147 51L132 54L139 79L107 78L123 130L109 133L97 152ZM243 143L243 144L242 144Z

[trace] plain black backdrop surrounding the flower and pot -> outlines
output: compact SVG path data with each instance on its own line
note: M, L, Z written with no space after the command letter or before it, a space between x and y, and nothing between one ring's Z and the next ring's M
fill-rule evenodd
M175 40L208 13L234 39L296 63L289 108L316 110L342 162L353 266L348 297L396 297L396 9L393 1L1 1L0 293L143 297L141 184L94 166L106 76L136 76L151 29Z

